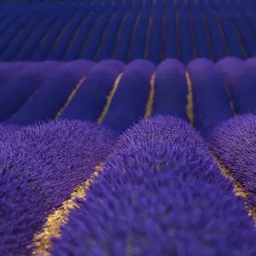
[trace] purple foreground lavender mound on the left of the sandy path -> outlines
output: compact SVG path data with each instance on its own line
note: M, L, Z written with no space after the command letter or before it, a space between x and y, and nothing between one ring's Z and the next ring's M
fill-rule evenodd
M48 214L90 177L116 137L79 120L9 127L0 129L0 248L24 255Z

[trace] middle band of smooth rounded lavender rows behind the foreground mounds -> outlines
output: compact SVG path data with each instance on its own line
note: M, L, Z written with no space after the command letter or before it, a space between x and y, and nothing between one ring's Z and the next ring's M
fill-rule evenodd
M56 118L101 118L102 124L125 131L147 111L188 120L191 82L192 118L207 136L234 113L256 112L255 68L256 59L236 57L217 64L199 58L187 67L175 59L158 66L146 60L128 65L117 60L0 62L0 121L28 125ZM151 111L146 109L150 95Z

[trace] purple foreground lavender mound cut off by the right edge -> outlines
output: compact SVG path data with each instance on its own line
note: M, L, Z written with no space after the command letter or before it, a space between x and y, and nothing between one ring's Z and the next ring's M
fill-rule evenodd
M247 191L248 207L256 207L256 116L236 116L210 135L212 151Z

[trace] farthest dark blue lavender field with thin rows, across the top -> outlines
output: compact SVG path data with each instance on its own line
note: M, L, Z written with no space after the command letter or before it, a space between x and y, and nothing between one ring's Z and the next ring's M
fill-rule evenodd
M256 55L253 0L13 1L0 3L0 61L172 57L187 65Z

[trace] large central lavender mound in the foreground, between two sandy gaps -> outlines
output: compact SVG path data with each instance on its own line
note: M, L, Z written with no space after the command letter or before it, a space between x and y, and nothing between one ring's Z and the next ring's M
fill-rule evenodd
M51 255L248 255L256 231L207 144L182 119L142 120L119 138Z

